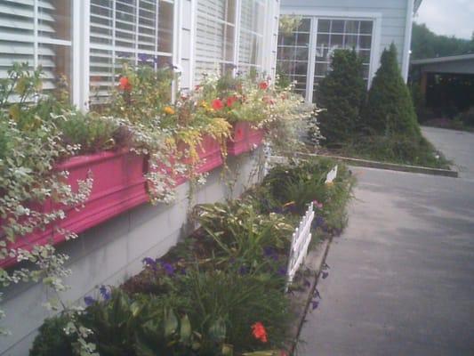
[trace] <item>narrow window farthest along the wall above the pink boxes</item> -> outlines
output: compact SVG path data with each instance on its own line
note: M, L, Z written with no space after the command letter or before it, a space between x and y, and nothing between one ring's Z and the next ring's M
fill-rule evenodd
M242 0L240 19L238 69L244 73L251 68L261 71L265 2Z

